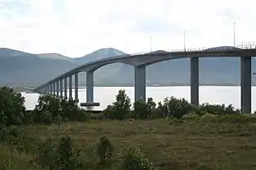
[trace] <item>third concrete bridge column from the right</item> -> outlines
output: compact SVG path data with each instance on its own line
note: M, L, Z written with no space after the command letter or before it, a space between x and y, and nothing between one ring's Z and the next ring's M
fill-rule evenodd
M146 67L135 67L135 101L146 101Z

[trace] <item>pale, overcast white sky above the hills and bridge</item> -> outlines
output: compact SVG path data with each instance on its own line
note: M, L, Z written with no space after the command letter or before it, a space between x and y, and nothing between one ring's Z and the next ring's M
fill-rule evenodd
M255 7L255 0L0 0L0 47L71 58L107 47L211 47L233 45L234 27L236 44L254 42Z

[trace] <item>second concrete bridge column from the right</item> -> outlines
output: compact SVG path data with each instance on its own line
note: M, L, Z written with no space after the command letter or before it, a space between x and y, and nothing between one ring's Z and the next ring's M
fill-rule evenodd
M199 105L199 59L191 58L191 103Z

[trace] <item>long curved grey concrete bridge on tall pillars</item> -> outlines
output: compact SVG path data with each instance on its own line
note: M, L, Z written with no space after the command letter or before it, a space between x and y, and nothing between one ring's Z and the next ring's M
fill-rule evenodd
M247 43L238 46L220 46L180 50L158 50L150 53L121 55L107 59L98 59L57 76L33 91L36 93L54 93L67 97L67 79L69 98L72 98L72 77L75 81L75 100L78 100L78 74L86 73L86 103L94 102L94 72L102 66L112 63L125 63L135 68L135 100L146 100L146 66L169 59L191 59L191 103L199 105L199 58L230 57L241 59L241 111L251 112L251 58L256 57L256 44Z

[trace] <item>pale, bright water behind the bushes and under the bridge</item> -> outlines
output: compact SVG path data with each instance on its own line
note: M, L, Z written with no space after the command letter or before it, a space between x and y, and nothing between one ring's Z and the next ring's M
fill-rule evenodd
M103 110L107 105L115 101L115 96L119 90L123 89L134 101L133 87L95 87L94 100L100 102L101 106L95 110ZM176 87L147 87L147 97L153 97L155 102L162 101L166 96L184 97L190 101L190 86ZM68 93L68 92L67 92ZM22 93L26 98L27 110L33 110L37 104L38 93ZM85 89L79 89L79 101L85 102ZM73 91L74 97L74 91ZM256 87L252 87L252 110L256 110ZM235 108L240 108L240 87L238 86L202 86L199 88L199 102L210 104L232 104Z

